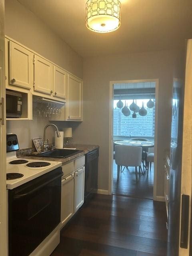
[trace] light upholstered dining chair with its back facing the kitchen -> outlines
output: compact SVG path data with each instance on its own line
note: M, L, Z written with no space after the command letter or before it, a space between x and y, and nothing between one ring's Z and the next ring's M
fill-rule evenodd
M120 176L120 166L134 166L136 182L138 181L137 169L141 175L142 147L138 146L115 146L115 163L117 164L117 180Z

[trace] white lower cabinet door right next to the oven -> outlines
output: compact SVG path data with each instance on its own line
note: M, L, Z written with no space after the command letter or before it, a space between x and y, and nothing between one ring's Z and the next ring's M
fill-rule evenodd
M74 174L62 180L61 223L66 224L74 214Z

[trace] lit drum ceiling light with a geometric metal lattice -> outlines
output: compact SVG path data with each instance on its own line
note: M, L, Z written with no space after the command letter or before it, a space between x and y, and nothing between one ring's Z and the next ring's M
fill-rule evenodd
M88 0L86 2L86 26L88 29L107 33L117 30L121 24L119 0Z

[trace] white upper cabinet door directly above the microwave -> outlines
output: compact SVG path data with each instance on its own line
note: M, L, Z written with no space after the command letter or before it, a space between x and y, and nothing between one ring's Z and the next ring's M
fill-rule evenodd
M33 54L9 41L9 84L31 89L33 84Z

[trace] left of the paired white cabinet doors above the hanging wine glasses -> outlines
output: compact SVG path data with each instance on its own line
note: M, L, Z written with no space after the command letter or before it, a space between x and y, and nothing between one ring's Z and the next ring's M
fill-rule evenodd
M34 91L52 94L53 64L34 55Z

